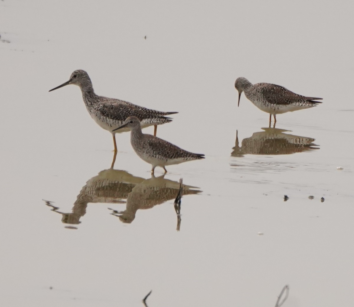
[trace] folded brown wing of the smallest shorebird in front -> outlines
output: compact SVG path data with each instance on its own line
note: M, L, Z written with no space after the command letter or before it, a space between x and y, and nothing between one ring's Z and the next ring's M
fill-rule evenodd
M188 152L182 148L179 148L176 145L173 145L161 138L154 137L149 134L145 134L146 142L151 148L152 152L160 157L164 157L166 159L177 159L177 158L185 158L185 159L204 159L204 154L195 154Z

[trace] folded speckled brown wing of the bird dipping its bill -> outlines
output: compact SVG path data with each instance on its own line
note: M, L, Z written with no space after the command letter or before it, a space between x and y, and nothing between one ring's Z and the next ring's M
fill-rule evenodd
M298 95L292 91L289 91L283 86L270 84L270 83L258 83L254 85L257 88L257 91L261 92L264 100L268 103L278 104L278 105L287 105L291 103L310 103L310 104L318 104L322 103L319 100L322 98L316 97L306 97L302 95Z

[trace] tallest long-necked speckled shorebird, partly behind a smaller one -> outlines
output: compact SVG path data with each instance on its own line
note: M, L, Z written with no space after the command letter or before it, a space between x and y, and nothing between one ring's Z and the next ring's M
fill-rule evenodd
M96 123L105 130L108 130L113 135L114 152L117 152L117 144L115 141L114 128L120 127L125 119L129 116L136 116L142 128L155 126L154 136L156 135L157 125L169 123L172 119L165 115L176 114L178 112L160 112L156 110L139 107L127 101L98 96L93 91L92 82L85 70L75 70L69 81L51 89L54 91L68 84L75 84L80 87L82 99L85 102L87 111ZM123 129L119 132L129 131Z

